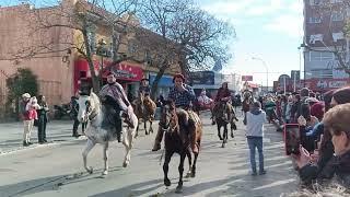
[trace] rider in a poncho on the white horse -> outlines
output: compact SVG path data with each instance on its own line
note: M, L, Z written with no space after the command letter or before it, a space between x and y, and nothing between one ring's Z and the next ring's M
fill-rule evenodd
M130 127L136 127L136 125L132 125L132 121L130 121L131 116L133 114L132 106L128 101L128 97L122 86L116 80L117 79L115 77L115 73L113 71L108 71L107 84L105 84L101 89L100 97L102 102L108 102L109 105L106 105L106 106L113 106L113 108L116 111L116 115L113 118L115 119L115 124L116 124L118 142L120 142L120 136L121 136L121 129L122 129L122 121L119 115L120 111L122 111L124 115L126 115L127 117L126 123ZM113 101L107 101L108 97L113 99Z

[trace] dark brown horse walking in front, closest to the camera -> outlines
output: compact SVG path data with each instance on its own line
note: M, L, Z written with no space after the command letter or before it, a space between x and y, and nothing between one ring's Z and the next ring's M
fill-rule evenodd
M195 118L189 118L195 116ZM161 108L160 129L165 132L165 160L163 164L164 172L164 185L171 186L171 181L167 177L168 163L173 154L176 152L180 155L180 162L178 165L179 181L176 187L176 193L180 193L183 189L183 174L184 174L184 161L187 155L189 163L188 177L196 176L196 163L198 153L195 153L194 163L191 163L191 150L189 131L197 132L197 144L200 147L202 125L196 113L191 112L191 115L184 109L175 109L175 104L172 101L165 101Z

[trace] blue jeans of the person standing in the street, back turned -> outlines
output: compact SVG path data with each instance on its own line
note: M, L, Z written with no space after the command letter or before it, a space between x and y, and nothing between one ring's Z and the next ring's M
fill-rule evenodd
M250 157L250 166L253 173L256 173L255 149L258 149L259 153L259 171L264 171L264 153L262 153L262 137L247 137Z

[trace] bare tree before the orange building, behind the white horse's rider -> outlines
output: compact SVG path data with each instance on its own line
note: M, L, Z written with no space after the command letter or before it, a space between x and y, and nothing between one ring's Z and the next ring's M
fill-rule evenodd
M12 59L67 57L71 53L78 53L88 61L93 90L98 92L101 81L95 73L94 56L102 54L96 54L101 51L95 42L97 33L100 38L112 40L110 48L105 49L112 51L107 53L113 59L112 65L127 60L128 57L118 51L131 30L128 28L130 18L127 15L136 11L137 4L138 0L80 0L77 4L63 0L57 5L27 9L22 15L28 22L28 37L36 35L36 39L28 40L20 51L14 51ZM60 32L57 38L50 39L50 35L57 32Z

